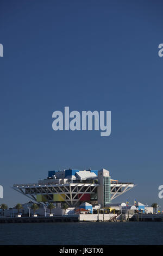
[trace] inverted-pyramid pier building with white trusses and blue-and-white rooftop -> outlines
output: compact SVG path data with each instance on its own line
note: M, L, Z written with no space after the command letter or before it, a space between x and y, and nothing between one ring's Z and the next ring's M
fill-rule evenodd
M82 202L107 206L113 199L135 185L112 180L106 169L101 170L50 170L47 179L33 184L14 184L14 190L35 202L65 202L78 206Z

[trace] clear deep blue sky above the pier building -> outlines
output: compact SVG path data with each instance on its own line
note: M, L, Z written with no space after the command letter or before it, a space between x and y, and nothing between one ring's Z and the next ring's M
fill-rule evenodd
M1 203L48 170L110 170L157 202L162 175L162 1L1 1ZM111 135L53 131L52 113L111 111Z

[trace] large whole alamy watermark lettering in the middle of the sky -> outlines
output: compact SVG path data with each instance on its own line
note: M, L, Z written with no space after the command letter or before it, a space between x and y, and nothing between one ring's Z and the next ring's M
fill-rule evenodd
M106 117L106 120L105 120ZM111 111L69 111L69 107L65 107L65 113L54 111L52 123L54 131L99 131L101 136L109 136L111 133ZM94 120L94 124L93 124Z

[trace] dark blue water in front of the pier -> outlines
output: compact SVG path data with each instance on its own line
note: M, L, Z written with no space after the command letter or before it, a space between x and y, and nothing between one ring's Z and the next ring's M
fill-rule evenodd
M163 222L0 224L0 245L163 245Z

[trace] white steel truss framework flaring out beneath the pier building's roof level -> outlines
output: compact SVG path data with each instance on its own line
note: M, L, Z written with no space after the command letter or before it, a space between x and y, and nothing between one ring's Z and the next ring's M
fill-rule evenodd
M45 202L39 202L45 204L46 202L55 202L54 194L59 194L61 202L67 203L68 206L77 206L80 199L84 194L92 195L91 201L97 202L97 187L101 186L99 183L65 183L54 184L54 182L48 184L15 184L12 188L29 197L30 199L37 201L37 195L46 197ZM134 184L111 184L111 200L120 196L124 192L133 188ZM91 202L90 202L91 203ZM98 203L98 202L97 202Z

